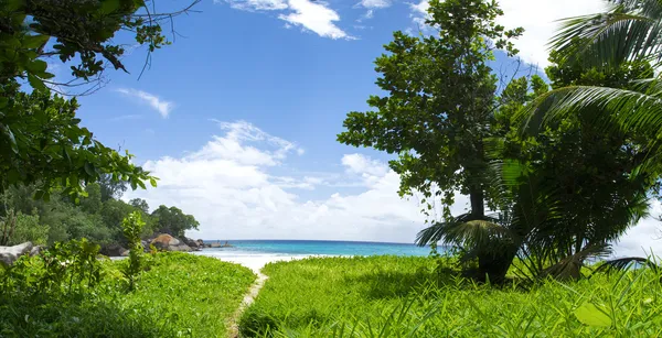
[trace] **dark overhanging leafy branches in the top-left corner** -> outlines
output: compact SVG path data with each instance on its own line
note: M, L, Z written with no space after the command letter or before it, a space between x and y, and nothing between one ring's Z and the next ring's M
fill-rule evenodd
M149 0L4 1L0 8L0 83L28 78L33 88L46 89L44 83L53 75L43 58L52 56L63 63L74 61L72 76L85 80L108 66L126 72L120 61L125 50L113 41L118 31L134 32L136 42L150 52L170 44L160 22L178 13L154 13L153 6Z

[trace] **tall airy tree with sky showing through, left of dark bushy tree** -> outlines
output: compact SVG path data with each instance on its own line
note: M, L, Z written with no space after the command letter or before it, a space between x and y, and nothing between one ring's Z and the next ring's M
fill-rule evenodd
M427 24L438 33L410 36L402 32L375 64L385 96L372 96L374 110L350 112L340 142L398 154L391 167L401 175L401 194L414 190L433 199L442 195L445 217L457 190L467 194L471 211L484 220L491 201L484 140L496 108L496 77L489 67L493 50L516 53L510 42L522 33L494 21L495 1L433 0ZM481 255L480 274L493 271L499 254Z

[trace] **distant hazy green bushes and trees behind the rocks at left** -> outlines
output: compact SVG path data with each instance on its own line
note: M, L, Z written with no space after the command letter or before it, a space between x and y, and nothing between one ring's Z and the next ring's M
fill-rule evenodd
M78 204L53 189L49 201L34 199L39 185L10 186L0 195L0 246L31 241L47 246L71 239L86 238L104 248L118 244L128 248L122 220L138 212L146 223L138 235L149 239L159 233L182 237L185 230L196 229L197 220L177 207L159 206L150 212L145 199L120 199L126 183L102 178L83 190Z

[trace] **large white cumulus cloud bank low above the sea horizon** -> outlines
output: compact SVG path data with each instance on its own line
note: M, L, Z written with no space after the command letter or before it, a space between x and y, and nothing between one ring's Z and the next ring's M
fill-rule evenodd
M397 195L399 177L384 163L351 154L338 175L282 177L273 168L299 149L246 122L222 123L224 133L175 159L148 161L159 187L127 193L152 208L177 205L201 222L189 233L205 239L338 239L412 242L424 227L418 203ZM356 179L359 194L298 192ZM330 182L333 181L333 182ZM340 182L339 182L340 181Z

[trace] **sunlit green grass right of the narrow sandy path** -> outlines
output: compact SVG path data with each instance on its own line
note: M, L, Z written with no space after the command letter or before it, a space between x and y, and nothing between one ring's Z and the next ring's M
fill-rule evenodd
M662 284L650 270L478 285L428 258L323 258L268 264L241 319L246 337L659 337Z

